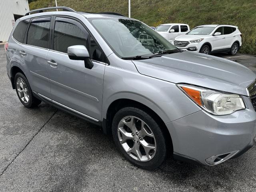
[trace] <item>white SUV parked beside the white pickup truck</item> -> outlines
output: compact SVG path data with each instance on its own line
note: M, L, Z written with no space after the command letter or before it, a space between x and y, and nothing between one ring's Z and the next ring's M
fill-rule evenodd
M175 38L172 43L178 48L204 54L229 52L235 55L242 45L241 40L237 26L202 25Z

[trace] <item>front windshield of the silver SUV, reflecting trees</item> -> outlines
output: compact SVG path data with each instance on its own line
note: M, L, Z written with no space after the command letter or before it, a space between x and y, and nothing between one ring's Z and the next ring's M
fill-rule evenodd
M88 18L113 52L120 58L152 56L166 50L178 52L170 42L137 20Z

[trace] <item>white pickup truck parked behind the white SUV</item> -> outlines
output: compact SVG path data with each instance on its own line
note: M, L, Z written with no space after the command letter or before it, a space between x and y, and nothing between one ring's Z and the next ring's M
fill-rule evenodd
M168 41L172 42L174 38L186 34L188 31L190 31L190 28L188 24L168 23L158 25L155 30Z

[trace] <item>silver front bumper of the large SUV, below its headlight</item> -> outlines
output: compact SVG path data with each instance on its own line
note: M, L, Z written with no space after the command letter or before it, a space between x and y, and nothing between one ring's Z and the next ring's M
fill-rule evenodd
M166 124L174 156L209 166L246 152L254 144L256 112L249 98L244 101L250 108L228 116L214 116L201 110Z

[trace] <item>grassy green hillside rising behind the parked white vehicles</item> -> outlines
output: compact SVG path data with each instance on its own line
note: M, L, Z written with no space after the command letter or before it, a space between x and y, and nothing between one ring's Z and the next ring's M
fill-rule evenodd
M57 0L83 12L119 12L128 16L128 0ZM54 6L55 0L37 0L30 10ZM131 16L150 26L182 22L191 28L202 24L232 24L242 32L241 53L256 54L256 0L131 0Z

